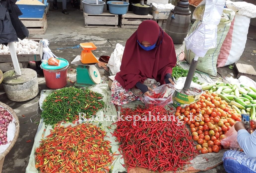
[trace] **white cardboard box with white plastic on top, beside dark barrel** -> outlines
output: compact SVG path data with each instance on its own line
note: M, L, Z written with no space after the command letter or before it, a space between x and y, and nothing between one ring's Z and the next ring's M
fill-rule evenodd
M159 4L158 4L159 5ZM163 4L165 7L159 8L155 3L152 3L151 7L151 14L153 16L153 19L168 19L168 16L170 14L171 9L174 8L174 5L172 4Z

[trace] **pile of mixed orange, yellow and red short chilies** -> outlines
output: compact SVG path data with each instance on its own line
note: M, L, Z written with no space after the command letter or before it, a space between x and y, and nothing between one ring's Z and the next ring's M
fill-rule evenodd
M91 124L55 127L36 149L36 168L40 172L109 171L113 156L106 132Z

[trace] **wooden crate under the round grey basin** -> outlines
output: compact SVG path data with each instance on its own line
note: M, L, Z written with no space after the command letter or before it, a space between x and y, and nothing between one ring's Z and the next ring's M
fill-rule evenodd
M118 15L103 12L100 15L83 13L85 28L118 28Z

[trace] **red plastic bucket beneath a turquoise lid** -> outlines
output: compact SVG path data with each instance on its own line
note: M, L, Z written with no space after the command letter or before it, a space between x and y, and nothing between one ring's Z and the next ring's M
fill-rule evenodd
M68 65L57 70L44 69L42 66L41 68L44 71L45 83L48 88L60 89L67 85Z

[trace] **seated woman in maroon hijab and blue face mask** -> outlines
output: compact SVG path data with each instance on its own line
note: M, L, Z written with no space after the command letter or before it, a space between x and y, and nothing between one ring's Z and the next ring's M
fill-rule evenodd
M143 21L125 44L120 72L111 87L111 103L143 101L143 94L150 95L148 90L153 91L160 84L174 84L171 74L176 62L170 36L155 21Z

